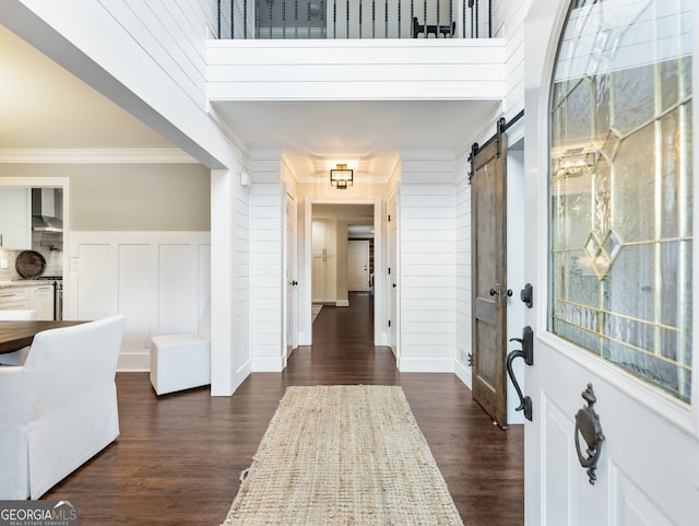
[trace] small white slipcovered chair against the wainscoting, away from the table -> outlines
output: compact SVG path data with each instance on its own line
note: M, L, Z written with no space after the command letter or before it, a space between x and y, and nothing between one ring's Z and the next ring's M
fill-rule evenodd
M151 384L156 395L211 384L211 302L197 332L151 338Z

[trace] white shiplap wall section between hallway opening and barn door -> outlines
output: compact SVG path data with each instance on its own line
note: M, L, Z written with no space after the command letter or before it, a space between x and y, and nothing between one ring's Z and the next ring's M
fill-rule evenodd
M454 159L401 159L401 371L454 371Z

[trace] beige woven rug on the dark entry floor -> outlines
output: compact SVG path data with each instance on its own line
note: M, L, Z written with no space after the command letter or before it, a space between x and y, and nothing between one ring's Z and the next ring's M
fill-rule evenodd
M462 526L401 387L288 387L224 526Z

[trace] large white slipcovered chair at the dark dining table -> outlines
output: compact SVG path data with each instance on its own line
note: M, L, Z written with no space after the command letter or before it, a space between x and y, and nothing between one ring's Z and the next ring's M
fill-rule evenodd
M119 435L125 319L38 332L24 365L0 369L0 500L38 499Z

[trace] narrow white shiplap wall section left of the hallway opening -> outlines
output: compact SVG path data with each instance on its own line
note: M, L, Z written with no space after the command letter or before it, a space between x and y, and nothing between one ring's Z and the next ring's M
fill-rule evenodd
M282 371L282 184L280 152L250 161L252 371ZM284 196L286 198L286 196Z

